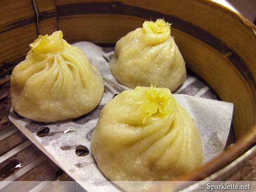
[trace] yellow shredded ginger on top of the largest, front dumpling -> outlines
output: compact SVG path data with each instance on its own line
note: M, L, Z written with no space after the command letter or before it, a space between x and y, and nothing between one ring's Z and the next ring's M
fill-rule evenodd
M148 117L154 115L156 117L166 116L171 114L175 103L171 91L167 88L156 88L152 85L150 87L137 86L134 91L141 91L144 93L142 101L139 101L139 115L144 124ZM174 101L174 102L172 102Z

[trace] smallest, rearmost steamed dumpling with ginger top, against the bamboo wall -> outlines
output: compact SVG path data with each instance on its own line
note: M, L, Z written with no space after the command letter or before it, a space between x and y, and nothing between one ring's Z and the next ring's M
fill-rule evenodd
M119 39L109 64L117 82L134 89L157 80L159 87L176 90L186 78L186 68L170 35L170 24L158 19L145 21L143 28Z

